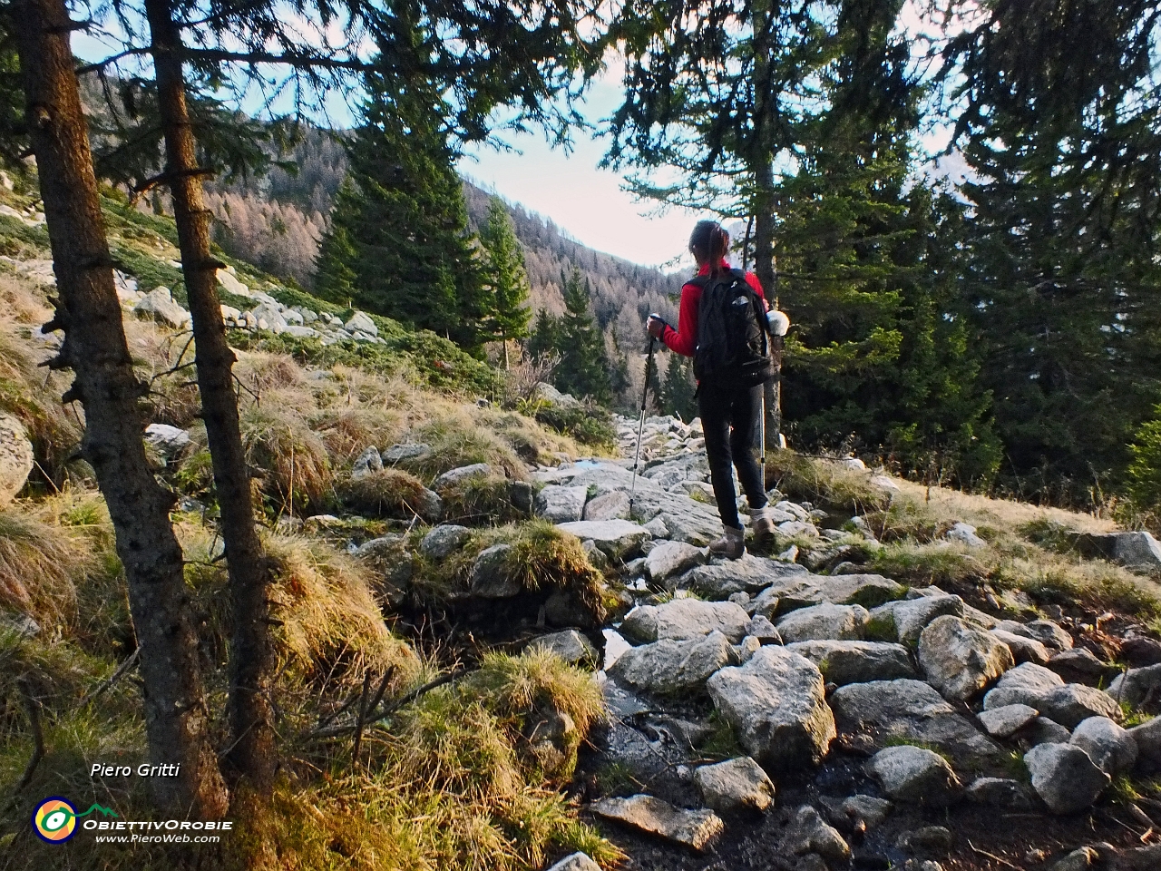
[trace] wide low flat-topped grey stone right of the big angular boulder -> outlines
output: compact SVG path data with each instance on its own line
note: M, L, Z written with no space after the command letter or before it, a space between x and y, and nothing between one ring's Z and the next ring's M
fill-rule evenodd
M1000 746L922 681L900 678L839 686L830 707L843 734L868 733L877 746L915 741L936 747L965 765L994 762Z

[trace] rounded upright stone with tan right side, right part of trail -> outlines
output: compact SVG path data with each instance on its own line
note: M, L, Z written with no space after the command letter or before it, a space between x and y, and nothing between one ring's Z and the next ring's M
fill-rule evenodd
M966 701L1016 664L1005 643L950 614L923 629L918 658L928 682L950 701Z

